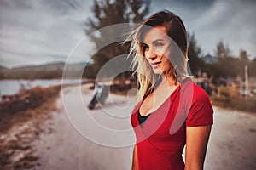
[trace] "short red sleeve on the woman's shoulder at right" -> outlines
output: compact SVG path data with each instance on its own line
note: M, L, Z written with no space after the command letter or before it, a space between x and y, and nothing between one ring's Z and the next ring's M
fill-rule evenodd
M192 105L186 119L187 127L198 127L213 123L213 109L207 93L194 86Z

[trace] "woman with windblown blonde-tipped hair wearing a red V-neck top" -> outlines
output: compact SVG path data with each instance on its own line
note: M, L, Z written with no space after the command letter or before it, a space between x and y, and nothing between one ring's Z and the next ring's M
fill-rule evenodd
M139 82L131 114L137 138L132 169L203 169L213 111L207 94L189 77L183 21L161 11L128 39Z

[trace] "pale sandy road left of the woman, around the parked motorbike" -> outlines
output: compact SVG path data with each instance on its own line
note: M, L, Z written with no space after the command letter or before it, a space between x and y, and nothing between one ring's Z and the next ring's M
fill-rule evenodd
M76 95L79 89L76 87L65 88L63 94L66 95L68 101L66 101L66 109L71 110L68 114L73 112L86 114L84 108L80 108L79 102L77 101ZM82 89L82 98L84 99L84 106L86 107L92 92L88 90L88 86L85 85ZM63 97L63 96L62 96ZM112 101L115 105L119 105L121 108L127 104L127 100L122 96L113 96L108 98L105 110L111 112ZM52 118L44 122L43 128L51 128L52 133L44 133L40 136L40 140L35 140L32 144L35 155L39 157L38 161L35 162L33 169L130 169L131 166L131 150L132 146L113 148L96 144L89 139L84 138L72 125L67 117L67 111L65 111L63 99L60 98L57 101L58 113L53 114ZM133 105L133 104L132 104ZM110 110L110 111L109 111ZM70 113L71 112L71 113ZM126 112L126 113L125 113ZM131 111L126 110L122 114L131 114ZM130 127L130 119L127 117L126 121L119 122L116 124L114 120L106 116L102 116L104 112L100 109L90 111L91 116L99 123L105 123L104 126L110 128L126 128ZM106 119L108 119L106 121ZM84 121L82 120L82 123ZM84 122L86 124L86 122ZM93 127L88 127L88 130L94 131ZM94 132L98 133L98 132ZM98 133L100 134L100 133ZM90 138L90 136L88 137Z

